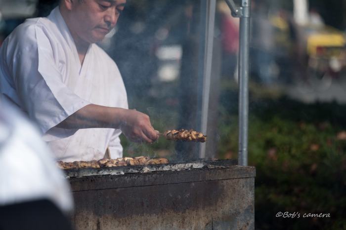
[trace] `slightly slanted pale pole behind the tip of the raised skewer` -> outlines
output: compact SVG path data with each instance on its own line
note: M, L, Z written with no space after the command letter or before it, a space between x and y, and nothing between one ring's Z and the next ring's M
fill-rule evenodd
M197 129L207 133L209 94L212 74L213 40L216 0L201 0L201 32L198 67L198 110ZM205 158L206 143L200 143L198 158Z

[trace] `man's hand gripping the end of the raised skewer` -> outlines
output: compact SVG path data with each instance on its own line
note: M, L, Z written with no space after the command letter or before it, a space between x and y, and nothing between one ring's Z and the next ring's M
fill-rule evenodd
M127 110L122 120L120 129L130 141L152 143L159 139L159 131L154 130L148 115Z

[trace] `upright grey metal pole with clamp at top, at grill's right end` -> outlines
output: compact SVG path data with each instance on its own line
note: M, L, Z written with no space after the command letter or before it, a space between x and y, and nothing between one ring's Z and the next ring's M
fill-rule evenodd
M248 165L249 55L251 0L242 0L239 27L239 145L238 164Z

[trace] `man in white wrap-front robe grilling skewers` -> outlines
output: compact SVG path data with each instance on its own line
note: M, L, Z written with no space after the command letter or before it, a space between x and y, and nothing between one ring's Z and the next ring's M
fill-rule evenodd
M28 19L0 51L1 98L37 122L57 160L122 156L159 138L148 115L128 109L114 61L95 42L117 23L126 0L61 0L47 18Z

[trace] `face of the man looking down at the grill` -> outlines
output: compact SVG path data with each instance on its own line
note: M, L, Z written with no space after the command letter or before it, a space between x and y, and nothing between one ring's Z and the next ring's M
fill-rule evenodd
M126 0L73 0L69 26L72 37L77 42L102 41L117 24L125 3Z

